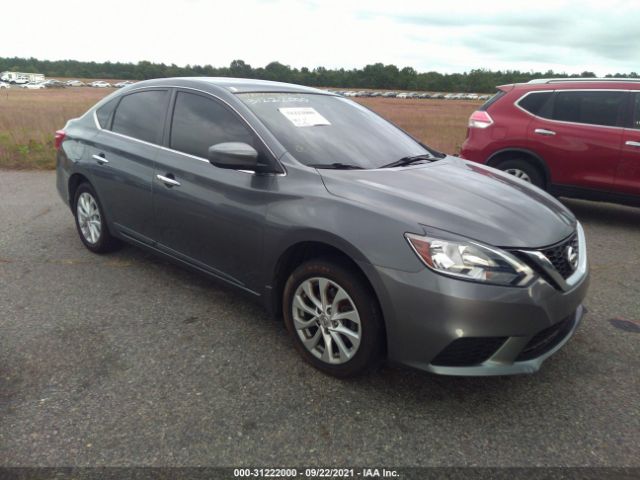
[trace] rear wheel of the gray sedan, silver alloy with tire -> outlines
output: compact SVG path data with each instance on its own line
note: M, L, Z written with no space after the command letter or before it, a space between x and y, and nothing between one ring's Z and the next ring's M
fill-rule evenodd
M90 184L78 186L73 213L80 240L93 253L111 252L120 246L120 241L109 233L98 195Z

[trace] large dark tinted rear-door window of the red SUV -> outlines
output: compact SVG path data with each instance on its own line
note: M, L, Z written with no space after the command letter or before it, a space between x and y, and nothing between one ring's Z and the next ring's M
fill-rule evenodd
M561 91L553 106L553 119L589 125L620 126L626 92Z

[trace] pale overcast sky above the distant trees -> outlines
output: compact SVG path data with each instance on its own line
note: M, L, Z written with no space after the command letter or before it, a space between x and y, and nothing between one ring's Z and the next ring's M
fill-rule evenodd
M640 72L638 0L18 0L0 18L5 57Z

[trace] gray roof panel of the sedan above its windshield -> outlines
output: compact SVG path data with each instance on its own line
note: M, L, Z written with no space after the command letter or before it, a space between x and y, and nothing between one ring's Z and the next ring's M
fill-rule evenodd
M258 92L287 92L287 93L317 93L333 95L326 90L320 90L293 83L273 82L270 80L257 80L249 78L231 77L174 77L145 80L137 82L137 87L150 86L184 86L184 87L217 87L231 93L258 93Z

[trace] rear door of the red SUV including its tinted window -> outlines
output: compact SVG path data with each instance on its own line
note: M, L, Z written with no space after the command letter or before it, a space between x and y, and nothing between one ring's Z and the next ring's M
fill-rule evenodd
M560 90L529 125L551 183L610 191L620 163L628 92Z

